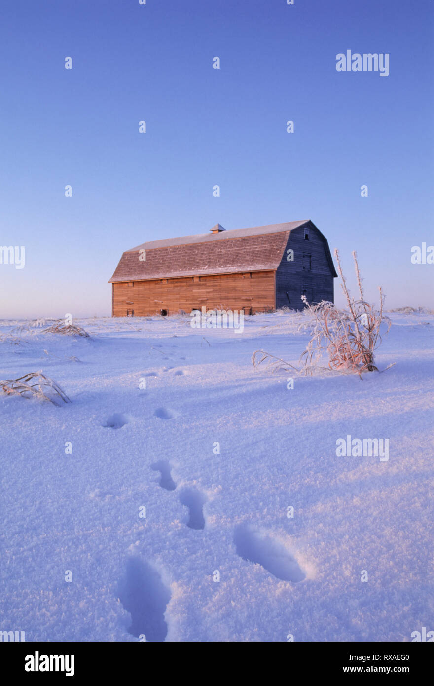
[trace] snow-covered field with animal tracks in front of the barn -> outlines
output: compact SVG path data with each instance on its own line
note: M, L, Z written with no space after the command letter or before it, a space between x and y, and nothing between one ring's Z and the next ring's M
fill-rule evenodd
M0 379L43 370L71 399L0 397L0 630L410 641L434 629L434 316L391 315L384 373L291 390L250 358L296 362L302 319L254 316L243 333L188 316L74 322L91 338L0 322L27 326L0 342ZM348 434L388 438L389 460L337 457Z

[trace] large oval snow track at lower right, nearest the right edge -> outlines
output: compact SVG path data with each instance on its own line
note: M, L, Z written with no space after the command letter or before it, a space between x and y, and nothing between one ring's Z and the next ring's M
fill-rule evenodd
M262 565L282 581L296 583L306 578L296 558L271 534L241 524L235 530L234 543L243 560Z

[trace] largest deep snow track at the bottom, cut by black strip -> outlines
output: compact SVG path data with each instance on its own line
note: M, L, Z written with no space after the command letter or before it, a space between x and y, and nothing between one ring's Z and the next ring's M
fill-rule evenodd
M164 641L167 635L165 610L170 591L154 567L140 557L127 560L124 578L119 584L119 600L131 615L128 631L147 641Z

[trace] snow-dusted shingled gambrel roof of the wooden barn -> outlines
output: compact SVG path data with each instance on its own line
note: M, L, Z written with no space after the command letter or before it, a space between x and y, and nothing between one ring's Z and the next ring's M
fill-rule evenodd
M109 283L276 270L289 234L301 226L316 228L310 220L302 220L232 230L223 230L221 227L219 233L147 241L123 253ZM325 238L324 241L330 268L335 276L328 243ZM145 260L143 252L140 252L143 250Z

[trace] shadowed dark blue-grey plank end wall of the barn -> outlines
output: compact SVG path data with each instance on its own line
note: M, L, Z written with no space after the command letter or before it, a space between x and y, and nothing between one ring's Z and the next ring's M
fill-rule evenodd
M289 249L294 251L293 262L287 261ZM276 307L303 309L301 295L304 289L313 303L320 300L333 303L335 271L330 261L327 241L315 226L309 226L309 240L304 239L304 228L291 231L276 271Z

